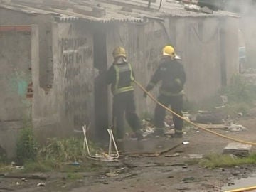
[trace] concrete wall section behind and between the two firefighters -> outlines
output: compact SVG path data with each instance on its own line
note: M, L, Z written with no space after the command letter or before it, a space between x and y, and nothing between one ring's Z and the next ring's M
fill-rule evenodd
M117 46L123 46L127 50L127 60L133 66L136 80L142 83L142 85L146 85L159 65L161 48L166 43L165 39L162 38L165 34L159 23L119 23L113 25L107 32L108 64L112 65L113 49ZM155 96L157 92L157 88L152 91ZM142 90L136 85L134 95L138 113L144 115L149 112L152 114L154 102L149 99L145 100L142 97ZM111 99L112 96L110 97L110 103L112 102Z

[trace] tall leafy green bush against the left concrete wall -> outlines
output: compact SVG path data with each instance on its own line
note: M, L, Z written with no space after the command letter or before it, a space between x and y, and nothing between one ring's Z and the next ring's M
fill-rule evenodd
M16 164L36 160L38 144L36 143L32 126L26 124L16 142Z

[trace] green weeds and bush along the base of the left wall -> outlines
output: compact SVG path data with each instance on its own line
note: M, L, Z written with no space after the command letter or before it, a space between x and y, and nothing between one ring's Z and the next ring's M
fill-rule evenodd
M95 154L102 150L90 142L90 152ZM0 171L46 172L64 171L79 172L92 171L95 167L86 166L86 149L84 137L49 138L44 146L39 146L33 134L31 124L24 123L16 142L16 165L23 165L23 169L16 169L6 159L0 159ZM3 153L4 154L4 153ZM0 156L1 157L1 156ZM70 175L70 179L75 176Z

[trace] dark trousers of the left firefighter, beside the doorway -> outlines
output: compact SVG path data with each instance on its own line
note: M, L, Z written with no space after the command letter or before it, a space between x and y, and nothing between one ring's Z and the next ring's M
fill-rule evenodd
M139 132L141 124L136 113L134 92L122 92L113 97L113 125L117 139L124 137L124 114L133 132Z

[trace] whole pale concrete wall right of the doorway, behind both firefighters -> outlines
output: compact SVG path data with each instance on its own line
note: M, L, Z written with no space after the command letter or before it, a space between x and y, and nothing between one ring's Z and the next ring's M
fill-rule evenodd
M156 21L123 23L112 26L107 35L108 63L112 63L113 48L124 46L137 80L145 86L159 65L161 48L171 42L186 70L186 97L192 102L202 102L220 90L223 69L227 82L238 72L237 31L237 18L222 21L218 17L171 17L166 18L164 26ZM155 97L157 90L152 92ZM155 104L145 100L138 88L135 97L139 114L153 112Z

